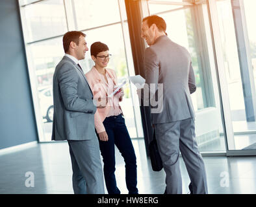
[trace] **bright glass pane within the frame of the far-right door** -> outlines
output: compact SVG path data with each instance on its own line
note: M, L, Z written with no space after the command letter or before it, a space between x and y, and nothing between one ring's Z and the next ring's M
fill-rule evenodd
M217 1L234 137L229 150L255 149L255 1ZM246 21L244 21L246 19Z

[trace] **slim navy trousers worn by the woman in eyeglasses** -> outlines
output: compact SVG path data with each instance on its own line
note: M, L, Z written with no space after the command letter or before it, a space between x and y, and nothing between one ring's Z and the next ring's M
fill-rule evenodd
M109 116L105 118L103 125L109 136L107 142L99 140L99 148L104 162L104 177L109 194L120 194L120 190L116 185L116 160L114 145L118 147L125 161L125 182L129 194L137 194L137 166L136 156L133 144L125 125L125 119L122 114L118 116Z

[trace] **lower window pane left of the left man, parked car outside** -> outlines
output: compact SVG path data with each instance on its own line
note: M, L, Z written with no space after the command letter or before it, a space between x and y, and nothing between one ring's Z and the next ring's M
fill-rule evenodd
M53 121L53 74L58 62L64 56L62 38L55 38L27 45L29 67L36 80L36 94L41 114L44 137L41 142L51 140Z

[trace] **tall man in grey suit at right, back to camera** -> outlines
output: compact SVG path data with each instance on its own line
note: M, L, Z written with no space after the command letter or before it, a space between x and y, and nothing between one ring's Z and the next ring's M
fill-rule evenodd
M203 158L198 151L195 136L194 109L190 93L196 83L190 54L166 36L166 23L159 16L142 20L142 38L146 39L144 52L146 83L144 92L150 91L162 102L160 111L152 113L157 145L166 172L166 193L182 193L179 151L191 180L192 193L207 193L207 180ZM160 84L159 84L160 83ZM149 87L149 84L158 87ZM163 87L159 91L160 86Z

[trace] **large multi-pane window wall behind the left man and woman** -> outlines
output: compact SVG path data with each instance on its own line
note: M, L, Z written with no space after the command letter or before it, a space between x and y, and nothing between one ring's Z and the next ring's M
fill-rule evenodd
M127 62L131 65L133 61L131 48L125 47L123 38L122 25L126 22L121 22L120 18L120 8L125 12L125 5L120 7L118 0L19 0L19 5L38 133L40 142L47 142L51 140L52 133L53 74L56 65L64 56L62 36L68 31L67 21L71 30L85 30L89 49L95 41L109 46L112 54L109 68L116 71L118 80L122 82L129 75L128 71L133 71L132 67L128 69L127 66ZM122 16L123 19L127 18L126 14ZM127 60L127 56L131 60ZM87 72L92 65L94 62L89 50L85 60L81 61L81 66L83 71ZM131 138L143 137L140 113L134 113L129 82L123 89L125 96L120 105L129 134Z

